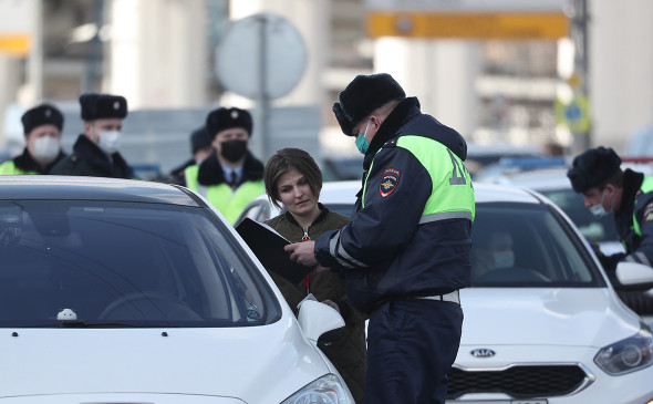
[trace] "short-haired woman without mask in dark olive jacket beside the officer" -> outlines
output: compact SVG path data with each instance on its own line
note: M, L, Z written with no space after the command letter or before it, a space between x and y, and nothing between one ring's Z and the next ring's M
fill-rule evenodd
M287 210L266 220L291 242L314 240L324 231L340 229L346 216L329 210L320 204L322 172L311 155L299 148L278 151L263 170L266 194L270 203ZM367 350L365 344L366 315L354 309L346 298L344 279L324 268L313 270L302 282L293 284L273 271L268 272L286 301L298 313L298 304L310 293L318 301L338 310L345 322L346 336L320 349L335 365L356 403L363 402Z

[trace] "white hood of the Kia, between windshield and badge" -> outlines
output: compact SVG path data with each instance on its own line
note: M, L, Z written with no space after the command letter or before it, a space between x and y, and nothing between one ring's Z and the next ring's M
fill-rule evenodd
M633 335L639 318L608 288L469 288L460 345L602 348Z

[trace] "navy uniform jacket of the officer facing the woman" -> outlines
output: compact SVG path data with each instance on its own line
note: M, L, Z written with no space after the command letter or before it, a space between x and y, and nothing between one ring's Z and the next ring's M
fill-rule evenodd
M448 170L459 165L454 173L468 182L464 185L468 218L419 222L432 191L444 183L434 184L429 170L435 168L396 146L404 135L448 147L446 160L435 164L443 168L448 164ZM402 101L372 139L363 163L364 188L350 224L315 242L321 265L345 268L348 296L359 310L371 312L385 300L444 294L469 286L474 197L469 175L452 152L464 160L465 139L422 114L415 97Z

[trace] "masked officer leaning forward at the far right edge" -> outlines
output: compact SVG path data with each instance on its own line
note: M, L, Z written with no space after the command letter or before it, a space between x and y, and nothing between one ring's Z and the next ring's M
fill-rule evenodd
M621 261L653 266L653 177L630 168L622 170L621 157L603 146L576 156L567 177L592 215L614 215L625 251L605 256L598 245L592 248L624 303L639 314L653 314L653 298L642 291L623 290L615 274Z

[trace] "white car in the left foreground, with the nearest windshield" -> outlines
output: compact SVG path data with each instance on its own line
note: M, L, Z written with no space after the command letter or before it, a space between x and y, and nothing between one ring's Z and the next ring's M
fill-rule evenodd
M342 317L183 187L1 176L0 289L0 403L353 403Z

